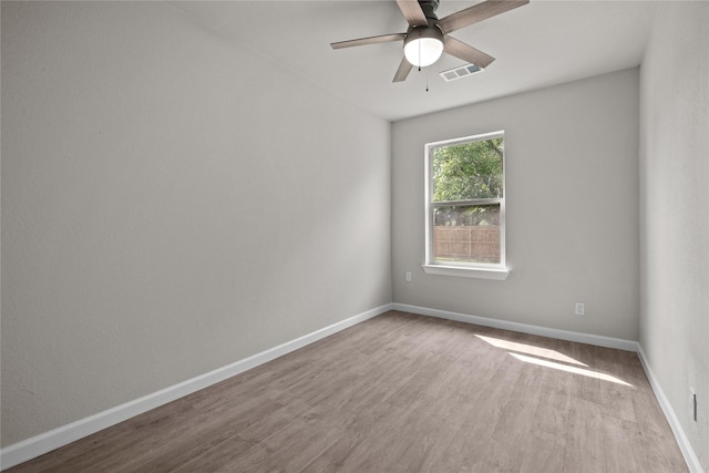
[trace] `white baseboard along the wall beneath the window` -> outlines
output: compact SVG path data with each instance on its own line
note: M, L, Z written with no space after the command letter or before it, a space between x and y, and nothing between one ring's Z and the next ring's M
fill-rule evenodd
M597 347L617 348L626 351L638 351L637 341L620 338L604 337L592 333L580 333L567 330L557 330L547 327L532 326L527 323L511 322L507 320L489 319L486 317L469 316L445 310L429 309L425 307L409 306L405 304L392 304L392 309L403 312L419 313L421 316L438 317L440 319L455 320L458 322L474 323L483 327L492 327L503 330L518 331L522 333L538 335L541 337L556 338L559 340L576 341L579 343L595 345Z

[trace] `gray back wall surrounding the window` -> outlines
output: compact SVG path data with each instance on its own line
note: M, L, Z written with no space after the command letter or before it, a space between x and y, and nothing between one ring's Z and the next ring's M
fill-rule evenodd
M423 147L505 131L505 281L427 275ZM638 70L393 124L395 302L638 337ZM404 281L404 271L413 281ZM574 302L586 315L574 315Z

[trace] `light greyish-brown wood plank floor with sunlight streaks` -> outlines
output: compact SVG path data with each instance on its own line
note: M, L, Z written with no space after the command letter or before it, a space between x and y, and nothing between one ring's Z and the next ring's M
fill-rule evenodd
M388 312L9 472L682 472L636 353Z

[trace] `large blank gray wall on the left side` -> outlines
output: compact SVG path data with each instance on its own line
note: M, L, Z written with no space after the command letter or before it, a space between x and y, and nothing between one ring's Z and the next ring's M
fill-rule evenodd
M1 30L2 445L391 301L388 122L161 2Z

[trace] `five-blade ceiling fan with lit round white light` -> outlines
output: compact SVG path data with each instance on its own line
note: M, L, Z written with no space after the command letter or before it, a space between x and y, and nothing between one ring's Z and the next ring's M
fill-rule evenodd
M439 60L442 53L486 68L495 58L449 35L461 28L527 4L530 0L486 0L439 20L435 10L440 0L397 0L409 22L405 33L382 34L330 43L332 49L352 48L391 41L403 41L404 56L393 82L402 82L415 65L424 68Z

